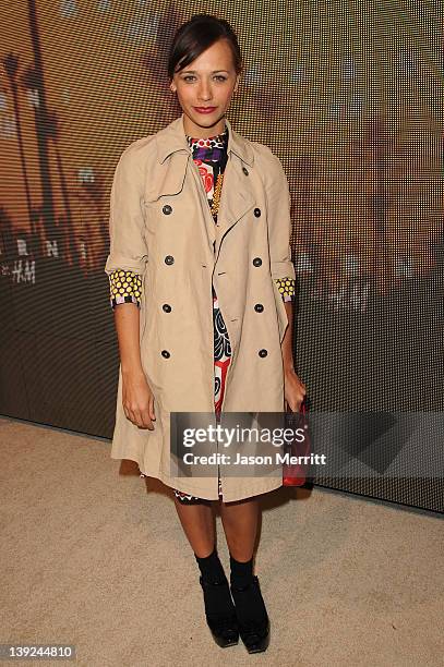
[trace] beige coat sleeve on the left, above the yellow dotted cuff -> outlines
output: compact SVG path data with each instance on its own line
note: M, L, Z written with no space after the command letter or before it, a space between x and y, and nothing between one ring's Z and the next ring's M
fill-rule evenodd
M116 167L109 211L109 255L105 272L116 269L145 272L148 251L144 237L144 163L133 145L128 146Z

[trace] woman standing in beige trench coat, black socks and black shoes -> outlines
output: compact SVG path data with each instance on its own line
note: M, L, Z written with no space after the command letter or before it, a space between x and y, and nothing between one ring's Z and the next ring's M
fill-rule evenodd
M230 25L200 14L175 35L170 88L182 116L121 155L105 267L120 367L111 457L173 488L219 646L265 651L269 619L253 574L259 496L276 477L171 475L170 412L299 411L291 351L289 191L272 151L226 111L242 59ZM230 586L215 547L218 500ZM231 591L231 594L230 594Z

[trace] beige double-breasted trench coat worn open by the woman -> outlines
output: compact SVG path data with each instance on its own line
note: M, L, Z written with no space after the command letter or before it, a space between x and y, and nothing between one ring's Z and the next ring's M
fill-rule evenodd
M116 168L110 197L110 252L105 271L142 277L142 366L154 393L154 430L122 408L119 383L111 458L184 493L216 500L214 475L170 475L169 412L214 414L212 280L231 343L224 412L283 412L280 342L288 318L275 278L295 278L290 194L279 159L231 128L215 225L183 129L183 114L133 142ZM256 303L264 308L257 312ZM164 304L171 306L165 312ZM259 354L266 350L264 356ZM281 478L220 480L225 501L266 493Z

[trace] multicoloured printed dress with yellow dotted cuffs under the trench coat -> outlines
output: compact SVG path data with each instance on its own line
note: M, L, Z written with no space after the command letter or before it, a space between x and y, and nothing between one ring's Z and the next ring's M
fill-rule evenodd
M224 173L227 165L228 128L221 134L208 138L194 138L187 135L188 144L192 150L194 163L202 177L208 206L215 223L219 208ZM284 301L291 301L295 294L295 280L292 278L276 279L277 287ZM120 303L135 303L140 306L142 278L134 271L116 269L109 275L110 302L115 308ZM217 294L213 287L213 330L214 330L214 407L216 419L220 416L221 404L225 393L225 379L231 359L231 347L228 331L221 316ZM141 473L141 477L145 477ZM223 499L220 477L219 499ZM178 489L173 489L176 498L181 504L208 502L203 498L191 496Z

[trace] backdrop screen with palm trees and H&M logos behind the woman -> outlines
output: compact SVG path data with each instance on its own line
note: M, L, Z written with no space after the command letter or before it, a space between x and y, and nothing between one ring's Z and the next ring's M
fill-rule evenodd
M442 412L441 0L9 0L0 413L111 437L112 174L132 141L180 113L166 58L175 29L199 12L236 28L245 71L229 119L289 179L295 359L312 410ZM427 437L418 447L442 457ZM439 478L324 485L444 509Z

